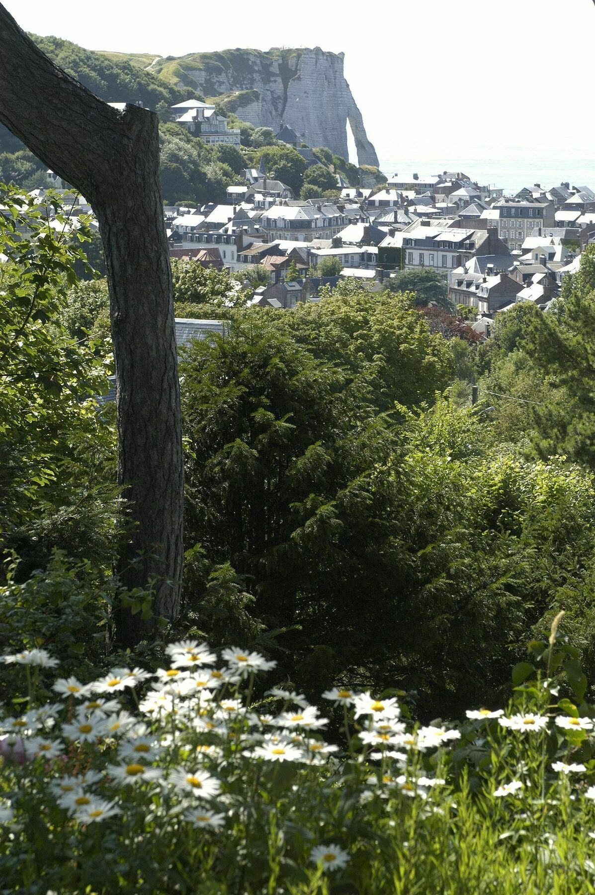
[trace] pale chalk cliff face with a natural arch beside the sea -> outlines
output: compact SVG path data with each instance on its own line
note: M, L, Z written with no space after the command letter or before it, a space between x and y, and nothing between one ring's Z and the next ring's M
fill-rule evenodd
M343 53L327 53L320 47L271 50L267 54L244 50L241 57L239 51L232 52L234 62L229 66L212 62L205 55L204 67L184 66L185 72L206 96L257 91L258 98L251 95L244 104L234 107L239 118L276 131L283 122L309 146L327 146L343 158L348 158L349 122L359 164L378 166L376 150L344 78Z

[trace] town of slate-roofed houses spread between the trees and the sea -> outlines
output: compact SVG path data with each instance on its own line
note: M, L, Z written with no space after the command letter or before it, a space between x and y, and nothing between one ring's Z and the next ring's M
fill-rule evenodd
M169 120L208 145L240 145L240 130L215 105L190 99L172 107ZM286 124L275 141L295 149L306 166L319 165ZM228 268L240 279L256 268L250 303L287 310L319 301L320 286L332 290L341 279L380 291L400 271L433 271L451 311L484 338L495 316L515 303L548 310L595 239L595 192L583 184L533 183L505 195L463 171L362 177L360 169L365 185L357 186L334 177L336 189L300 199L267 175L261 159L259 167L242 169L225 202L165 206L170 256ZM51 171L47 185L69 194ZM74 217L91 212L81 197L74 201Z

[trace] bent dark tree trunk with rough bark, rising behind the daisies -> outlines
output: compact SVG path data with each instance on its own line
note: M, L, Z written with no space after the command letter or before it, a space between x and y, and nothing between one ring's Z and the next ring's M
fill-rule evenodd
M118 476L132 526L123 584L154 582L175 618L183 561L183 456L172 276L157 115L107 105L53 64L0 4L0 122L89 201L106 256L116 377ZM140 639L120 609L116 636Z

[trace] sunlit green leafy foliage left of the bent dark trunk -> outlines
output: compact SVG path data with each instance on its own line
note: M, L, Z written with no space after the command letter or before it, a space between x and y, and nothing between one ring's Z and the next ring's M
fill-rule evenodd
M21 555L21 574L55 547L109 562L114 433L92 397L106 391L108 345L60 318L90 234L70 231L62 213L56 233L46 209L13 190L2 205L0 550Z

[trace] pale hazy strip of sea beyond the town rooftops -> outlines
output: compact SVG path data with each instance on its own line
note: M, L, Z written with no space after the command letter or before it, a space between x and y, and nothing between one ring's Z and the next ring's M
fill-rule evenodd
M404 148L404 151L382 151L378 148L380 170L391 177L395 174L424 176L442 174L443 171L461 171L480 186L504 190L514 195L524 186L540 183L550 189L560 183L572 186L590 186L595 190L595 147L541 147L486 145L444 145L431 149Z

